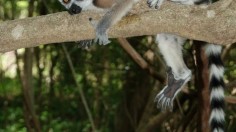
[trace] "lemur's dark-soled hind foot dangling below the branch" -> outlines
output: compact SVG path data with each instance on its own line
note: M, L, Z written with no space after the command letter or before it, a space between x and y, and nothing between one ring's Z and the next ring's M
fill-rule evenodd
M165 86L161 92L155 97L155 102L157 102L157 107L162 110L169 109L172 111L173 109L173 100L175 96L179 93L179 91L183 88L183 86L190 80L191 71L185 74L185 77L176 79L172 72L171 68L167 70L168 82L167 86Z

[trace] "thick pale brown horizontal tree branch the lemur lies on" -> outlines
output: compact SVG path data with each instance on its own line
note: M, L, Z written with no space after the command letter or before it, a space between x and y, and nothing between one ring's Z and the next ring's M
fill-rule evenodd
M89 17L101 14L83 12L70 16L66 12L0 23L0 52L40 44L93 39ZM209 7L185 6L165 2L160 10L149 9L142 0L109 31L109 37L174 33L190 39L217 44L236 42L236 1L221 0Z

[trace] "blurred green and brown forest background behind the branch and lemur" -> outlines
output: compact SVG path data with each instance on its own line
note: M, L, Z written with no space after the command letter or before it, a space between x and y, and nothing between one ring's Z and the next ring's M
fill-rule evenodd
M0 0L0 23L63 10L57 0ZM222 54L229 132L236 131L235 47ZM86 50L68 42L2 53L0 132L200 130L194 50L191 41L183 49L193 78L173 112L161 112L153 102L165 85L166 68L152 36L113 39Z

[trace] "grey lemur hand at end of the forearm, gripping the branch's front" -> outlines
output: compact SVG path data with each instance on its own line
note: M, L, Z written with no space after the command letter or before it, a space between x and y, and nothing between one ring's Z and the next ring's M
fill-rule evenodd
M98 22L94 21L92 18L89 18L89 21L96 29L96 38L94 39L94 42L98 43L99 45L109 44L111 41L108 39L106 29L99 27Z

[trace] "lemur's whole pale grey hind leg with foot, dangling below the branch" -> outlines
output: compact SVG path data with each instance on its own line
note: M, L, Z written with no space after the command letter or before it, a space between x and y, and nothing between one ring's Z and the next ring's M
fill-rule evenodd
M191 78L191 71L182 57L182 45L185 40L171 34L158 34L156 37L160 52L168 66L167 85L155 98L157 106L162 109L172 110L175 96Z

